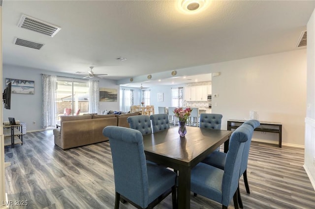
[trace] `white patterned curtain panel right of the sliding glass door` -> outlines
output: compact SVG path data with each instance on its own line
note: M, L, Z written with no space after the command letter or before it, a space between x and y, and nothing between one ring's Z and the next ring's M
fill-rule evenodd
M98 80L90 80L89 113L99 113L99 85Z

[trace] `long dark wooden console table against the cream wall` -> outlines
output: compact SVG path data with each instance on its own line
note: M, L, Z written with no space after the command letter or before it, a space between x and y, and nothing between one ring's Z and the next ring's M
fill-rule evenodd
M231 131L231 129L237 129L240 127L245 120L228 120L227 121L227 130ZM260 121L259 121L260 122ZM263 127L268 126L268 128ZM270 133L279 133L279 147L282 147L282 124L275 122L260 122L260 126L258 126L254 131L261 132L270 132Z

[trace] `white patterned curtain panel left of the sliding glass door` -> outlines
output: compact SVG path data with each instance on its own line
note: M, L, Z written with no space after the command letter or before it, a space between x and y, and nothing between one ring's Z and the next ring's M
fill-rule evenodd
M57 77L51 75L42 75L42 89L43 89L43 102L42 102L42 122L41 128L56 127L56 89Z

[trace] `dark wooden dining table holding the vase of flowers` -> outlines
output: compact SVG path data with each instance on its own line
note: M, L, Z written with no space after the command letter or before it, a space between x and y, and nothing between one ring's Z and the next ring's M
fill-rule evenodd
M146 158L178 171L177 208L190 208L191 169L224 143L228 151L232 131L186 127L180 137L178 127L143 136Z

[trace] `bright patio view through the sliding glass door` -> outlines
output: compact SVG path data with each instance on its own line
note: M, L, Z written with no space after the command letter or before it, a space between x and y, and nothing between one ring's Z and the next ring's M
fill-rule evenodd
M89 112L89 81L57 77L57 124L60 116Z

